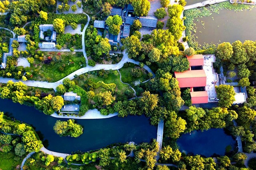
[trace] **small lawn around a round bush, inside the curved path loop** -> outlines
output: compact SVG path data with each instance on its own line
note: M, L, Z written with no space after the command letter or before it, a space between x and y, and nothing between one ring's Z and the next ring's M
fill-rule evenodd
M129 67L127 67L127 68L122 67L120 69L120 73L122 75L122 81L124 81L125 83L129 83L132 86L133 81L139 80L140 82L143 82L143 81L148 80L148 75L147 75L148 71L147 70L145 70L144 68L140 68L143 73L142 76L141 77L133 77L130 73L132 68L140 68L140 67L135 64L129 63Z

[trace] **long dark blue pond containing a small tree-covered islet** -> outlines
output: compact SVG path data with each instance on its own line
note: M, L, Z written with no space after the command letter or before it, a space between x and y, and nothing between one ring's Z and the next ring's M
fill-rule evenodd
M44 140L48 140L47 149L61 153L72 151L90 151L117 142L150 142L156 138L157 127L149 123L143 116L128 116L125 118L111 117L106 119L76 119L84 128L78 138L60 137L53 131L57 120L67 121L66 118L55 118L39 112L34 107L13 103L12 100L0 99L0 110L9 112L11 117L33 125L40 131Z

